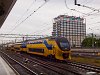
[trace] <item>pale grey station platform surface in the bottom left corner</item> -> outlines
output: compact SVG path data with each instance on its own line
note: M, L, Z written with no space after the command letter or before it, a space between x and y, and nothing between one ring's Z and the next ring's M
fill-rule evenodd
M9 65L0 56L0 75L16 75Z

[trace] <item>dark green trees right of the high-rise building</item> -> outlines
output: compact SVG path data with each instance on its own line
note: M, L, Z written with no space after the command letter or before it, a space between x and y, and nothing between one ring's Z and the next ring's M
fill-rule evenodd
M100 39L88 37L85 38L82 42L82 47L100 47Z

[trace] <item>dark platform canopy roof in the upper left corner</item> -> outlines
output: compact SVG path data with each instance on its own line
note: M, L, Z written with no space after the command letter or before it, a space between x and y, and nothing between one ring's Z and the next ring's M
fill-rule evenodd
M16 1L17 0L0 0L0 27L3 25Z

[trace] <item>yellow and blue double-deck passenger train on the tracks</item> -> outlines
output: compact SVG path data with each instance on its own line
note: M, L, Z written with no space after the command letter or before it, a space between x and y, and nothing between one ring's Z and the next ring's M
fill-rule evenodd
M50 37L15 43L11 50L27 52L58 60L71 59L71 46L65 37Z

